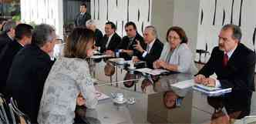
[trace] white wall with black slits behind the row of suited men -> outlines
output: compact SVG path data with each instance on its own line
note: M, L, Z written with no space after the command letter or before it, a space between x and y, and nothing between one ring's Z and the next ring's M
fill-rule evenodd
M117 25L116 32L120 36L126 35L124 25L128 21L135 22L141 34L143 28L151 22L151 2L152 0L91 0L91 15L98 21L98 28L103 34L108 20Z

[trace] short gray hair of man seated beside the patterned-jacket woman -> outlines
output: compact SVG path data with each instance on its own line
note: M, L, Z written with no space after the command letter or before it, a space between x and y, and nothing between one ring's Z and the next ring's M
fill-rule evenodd
M36 25L32 34L32 44L42 47L56 37L55 29L51 25Z

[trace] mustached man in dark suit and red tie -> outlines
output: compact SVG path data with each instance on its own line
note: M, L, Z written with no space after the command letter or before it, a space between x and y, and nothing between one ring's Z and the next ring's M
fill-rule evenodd
M248 116L251 95L254 92L255 53L241 44L241 29L237 25L224 25L219 35L219 47L198 72L195 82L223 89L231 93L220 96L229 115L239 113L237 119ZM209 77L214 74L217 79Z

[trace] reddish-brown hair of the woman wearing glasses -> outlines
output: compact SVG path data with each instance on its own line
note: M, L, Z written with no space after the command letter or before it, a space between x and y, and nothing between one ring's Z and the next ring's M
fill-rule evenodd
M176 32L176 33L180 36L180 39L181 39L180 44L182 44L182 43L186 43L186 44L187 44L187 35L186 35L186 32L184 31L183 28L180 28L180 27L178 27L178 26L173 26L173 27L170 27L170 28L168 29L168 31L167 31L167 37L166 37L167 42L168 42L168 35L169 35L170 31L174 31L174 32Z

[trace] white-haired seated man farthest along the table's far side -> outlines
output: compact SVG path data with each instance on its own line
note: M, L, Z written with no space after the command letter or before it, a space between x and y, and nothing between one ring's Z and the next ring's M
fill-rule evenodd
M94 36L95 36L95 45L101 46L102 45L101 40L103 39L103 33L96 27L96 21L93 19L89 19L86 22L86 28L93 30Z

